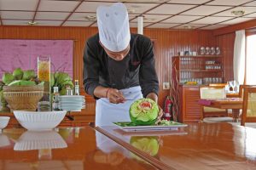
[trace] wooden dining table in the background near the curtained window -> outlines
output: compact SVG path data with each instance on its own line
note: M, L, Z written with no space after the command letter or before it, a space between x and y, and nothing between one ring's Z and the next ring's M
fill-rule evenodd
M203 100L205 100L205 102ZM207 107L218 108L218 109L231 109L233 122L238 122L239 112L242 109L241 98L210 99L210 100L200 99L199 104Z

